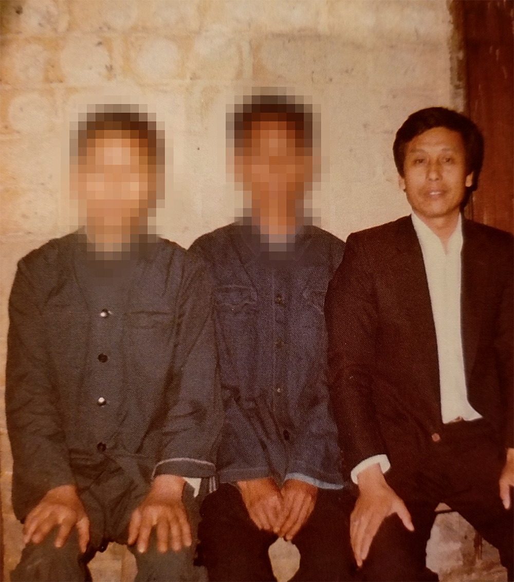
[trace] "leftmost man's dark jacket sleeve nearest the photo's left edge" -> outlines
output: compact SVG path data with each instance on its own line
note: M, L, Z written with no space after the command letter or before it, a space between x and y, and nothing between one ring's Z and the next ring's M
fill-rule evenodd
M20 520L50 489L75 484L38 300L44 276L20 261L9 298L5 403Z

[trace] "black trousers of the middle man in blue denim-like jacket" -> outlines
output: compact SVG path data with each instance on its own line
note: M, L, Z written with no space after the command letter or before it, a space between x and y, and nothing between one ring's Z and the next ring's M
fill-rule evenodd
M292 542L300 569L292 580L351 580L348 514L342 491L320 489L314 510ZM275 580L268 548L277 535L259 530L250 519L239 489L222 484L200 508L201 555L211 581Z

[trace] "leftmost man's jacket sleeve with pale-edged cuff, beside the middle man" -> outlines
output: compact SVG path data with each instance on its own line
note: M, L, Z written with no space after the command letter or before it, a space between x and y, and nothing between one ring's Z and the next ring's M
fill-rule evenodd
M159 474L215 472L223 407L212 322L212 285L203 262L186 255L178 293L175 356L167 393Z

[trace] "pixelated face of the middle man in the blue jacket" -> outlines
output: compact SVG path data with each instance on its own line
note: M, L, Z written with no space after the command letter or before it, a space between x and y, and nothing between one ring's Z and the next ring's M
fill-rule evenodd
M304 152L294 125L278 115L261 114L235 165L244 190L251 191L254 216L278 224L295 217L304 183L312 179L312 157Z

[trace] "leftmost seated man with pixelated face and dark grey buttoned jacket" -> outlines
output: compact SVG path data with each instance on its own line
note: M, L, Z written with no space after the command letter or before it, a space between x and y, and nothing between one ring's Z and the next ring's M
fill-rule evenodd
M137 580L205 580L196 494L222 423L210 279L147 231L163 194L153 120L98 106L71 146L84 226L22 258L9 300L12 501L26 544L11 580L91 580L87 562L110 541L130 546Z

